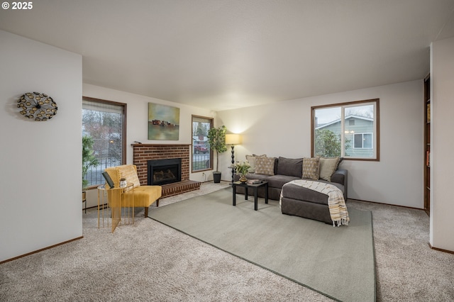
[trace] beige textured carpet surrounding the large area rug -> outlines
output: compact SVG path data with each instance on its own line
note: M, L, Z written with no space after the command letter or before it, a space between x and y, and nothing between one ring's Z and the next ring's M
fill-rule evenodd
M160 204L227 186L207 182ZM348 207L372 211L377 301L454 301L454 255L428 247L426 213L352 200ZM111 234L89 209L82 240L1 264L0 301L331 301L138 211L134 225Z

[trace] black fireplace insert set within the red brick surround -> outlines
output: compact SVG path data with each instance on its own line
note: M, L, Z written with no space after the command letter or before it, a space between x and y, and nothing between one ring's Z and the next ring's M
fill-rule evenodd
M148 160L148 185L162 186L182 180L182 159Z

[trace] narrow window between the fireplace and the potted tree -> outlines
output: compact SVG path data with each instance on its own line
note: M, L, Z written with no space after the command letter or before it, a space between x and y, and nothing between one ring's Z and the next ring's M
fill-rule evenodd
M213 118L192 116L192 172L213 169L213 152L207 142Z

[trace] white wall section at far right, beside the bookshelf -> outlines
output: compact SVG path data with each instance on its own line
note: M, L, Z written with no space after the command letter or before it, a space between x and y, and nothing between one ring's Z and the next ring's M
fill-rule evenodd
M433 43L431 50L430 242L433 247L454 251L454 38Z

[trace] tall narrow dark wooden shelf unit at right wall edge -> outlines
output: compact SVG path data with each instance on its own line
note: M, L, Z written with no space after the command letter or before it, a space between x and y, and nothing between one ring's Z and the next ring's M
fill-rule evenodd
M424 79L424 211L431 210L431 77Z

